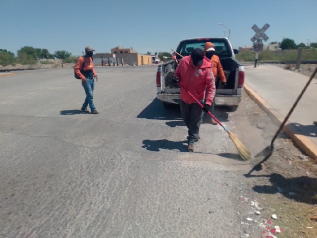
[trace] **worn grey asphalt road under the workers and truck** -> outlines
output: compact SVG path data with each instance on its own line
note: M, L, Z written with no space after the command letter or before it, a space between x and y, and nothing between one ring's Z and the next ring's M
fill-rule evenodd
M238 237L246 168L227 134L203 124L187 153L156 66L96 72L99 115L72 69L0 78L0 236Z

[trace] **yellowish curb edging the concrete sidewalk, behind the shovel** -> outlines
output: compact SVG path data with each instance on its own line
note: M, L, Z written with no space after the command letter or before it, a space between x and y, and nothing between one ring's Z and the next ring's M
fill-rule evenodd
M260 95L256 93L253 89L244 83L244 90L247 94L257 103L260 107L268 113L268 115L273 119L273 121L280 125L284 121L284 117L276 111L268 102L266 102ZM287 122L283 127L283 131L295 142L295 144L302 149L309 157L317 161L317 145L305 136L300 130L298 130L292 123Z

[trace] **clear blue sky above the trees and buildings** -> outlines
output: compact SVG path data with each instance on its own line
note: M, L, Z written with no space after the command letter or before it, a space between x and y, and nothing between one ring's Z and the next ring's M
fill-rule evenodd
M228 37L218 23L230 29L234 48L252 45L252 25L265 23L268 43L317 42L317 0L0 0L0 6L0 49L15 55L23 46L76 56L87 45L98 53L119 45L141 54L171 52L182 39Z

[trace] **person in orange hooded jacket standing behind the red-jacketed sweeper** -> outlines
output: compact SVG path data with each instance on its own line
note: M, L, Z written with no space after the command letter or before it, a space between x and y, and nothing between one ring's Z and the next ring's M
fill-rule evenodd
M211 42L206 42L205 48L204 48L204 55L210 59L210 62L212 64L212 72L214 74L214 77L216 79L217 75L219 76L221 87L224 89L227 86L227 79L226 79L226 76L224 75L223 68L222 68L222 65L220 63L220 59L217 55L215 55L215 52L216 52L215 45ZM210 112L212 114L214 114L214 107L215 107L215 100L212 102L212 105L211 105ZM203 119L203 117L204 117L204 112L202 114L201 119ZM211 124L217 125L217 122L215 121L215 119L213 119L209 115L208 115L207 120Z

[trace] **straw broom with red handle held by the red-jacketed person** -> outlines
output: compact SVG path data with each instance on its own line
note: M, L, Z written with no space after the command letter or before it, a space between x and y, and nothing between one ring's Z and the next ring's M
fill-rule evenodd
M176 53L177 55L183 57L181 54L179 54L178 52L176 52L175 50L172 50L174 53ZM178 83L179 86L184 89L197 103L200 107L204 108L203 104L201 104L197 98L195 98L187 89L184 88L184 86L181 83ZM245 147L245 145L243 145L243 143L238 139L238 137L232 133L231 131L229 131L221 122L219 122L219 120L211 114L211 112L208 112L209 116L211 116L213 119L215 119L215 121L228 133L230 139L232 140L232 142L235 144L236 148L238 149L240 158L244 161L249 160L251 157L251 153L250 151Z

